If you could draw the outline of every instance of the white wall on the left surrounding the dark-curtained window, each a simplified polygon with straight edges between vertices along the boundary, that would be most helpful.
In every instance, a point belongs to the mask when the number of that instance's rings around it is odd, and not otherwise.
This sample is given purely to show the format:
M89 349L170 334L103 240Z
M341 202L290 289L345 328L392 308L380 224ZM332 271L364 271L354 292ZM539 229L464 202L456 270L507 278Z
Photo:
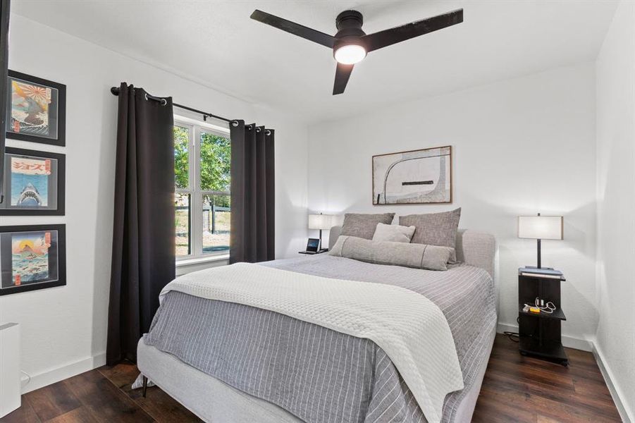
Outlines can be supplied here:
M304 124L16 15L9 67L62 82L67 90L66 148L8 141L66 154L66 216L0 218L2 225L66 223L67 285L0 297L0 321L22 326L22 365L33 376L27 390L104 362L117 108L112 85L132 82L180 104L276 128L276 256L292 255L306 242Z

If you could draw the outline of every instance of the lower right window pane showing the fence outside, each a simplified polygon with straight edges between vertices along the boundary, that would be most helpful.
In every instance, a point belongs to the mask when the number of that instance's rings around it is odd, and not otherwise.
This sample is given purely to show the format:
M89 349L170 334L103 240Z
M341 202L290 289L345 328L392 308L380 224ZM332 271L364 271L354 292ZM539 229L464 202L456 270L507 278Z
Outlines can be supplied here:
M203 195L203 254L229 250L229 195Z

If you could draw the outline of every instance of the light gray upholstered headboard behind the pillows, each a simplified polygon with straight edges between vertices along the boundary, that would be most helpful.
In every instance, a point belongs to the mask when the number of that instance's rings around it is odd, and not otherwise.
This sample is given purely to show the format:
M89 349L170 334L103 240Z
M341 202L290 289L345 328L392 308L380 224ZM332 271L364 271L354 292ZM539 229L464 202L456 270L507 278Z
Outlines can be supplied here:
M328 235L329 250L338 240L342 226L333 226ZM481 267L494 278L494 260L496 257L496 239L494 235L485 232L459 229L457 232L457 260Z

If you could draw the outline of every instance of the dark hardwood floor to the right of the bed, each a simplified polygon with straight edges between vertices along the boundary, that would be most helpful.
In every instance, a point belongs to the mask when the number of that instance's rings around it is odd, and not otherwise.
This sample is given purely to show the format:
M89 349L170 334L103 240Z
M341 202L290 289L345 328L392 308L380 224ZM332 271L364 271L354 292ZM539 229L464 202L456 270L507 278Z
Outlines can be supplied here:
M497 335L473 422L622 422L593 354L565 348L569 367L518 353Z

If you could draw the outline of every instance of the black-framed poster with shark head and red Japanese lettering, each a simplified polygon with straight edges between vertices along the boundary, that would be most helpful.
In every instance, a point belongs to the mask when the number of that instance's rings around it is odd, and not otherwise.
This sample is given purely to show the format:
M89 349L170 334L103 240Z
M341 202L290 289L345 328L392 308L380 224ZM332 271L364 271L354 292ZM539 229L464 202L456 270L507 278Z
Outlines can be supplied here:
M6 147L0 216L63 216L64 154Z

